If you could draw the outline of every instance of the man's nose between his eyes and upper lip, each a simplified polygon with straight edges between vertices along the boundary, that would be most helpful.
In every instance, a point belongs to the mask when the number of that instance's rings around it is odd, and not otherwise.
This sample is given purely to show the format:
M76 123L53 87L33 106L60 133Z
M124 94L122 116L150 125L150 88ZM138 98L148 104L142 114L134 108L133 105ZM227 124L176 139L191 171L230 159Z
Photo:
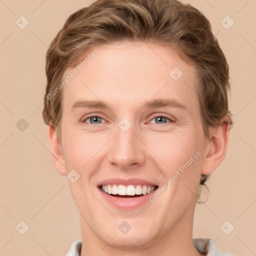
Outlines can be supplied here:
M128 170L145 162L145 145L134 125L123 131L119 126L112 138L108 161L120 169Z

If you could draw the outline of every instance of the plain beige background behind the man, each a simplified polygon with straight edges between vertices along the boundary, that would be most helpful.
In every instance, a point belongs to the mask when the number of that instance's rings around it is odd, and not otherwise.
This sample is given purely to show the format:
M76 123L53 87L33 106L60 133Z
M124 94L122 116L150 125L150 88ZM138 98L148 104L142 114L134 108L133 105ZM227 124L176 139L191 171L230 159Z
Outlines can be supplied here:
M78 210L68 180L51 162L41 111L47 46L68 15L91 2L0 0L2 256L64 255L71 242L80 239ZM207 183L209 198L196 206L193 235L210 237L222 250L236 255L256 255L256 0L183 2L209 18L226 55L235 121L226 157ZM21 15L29 21L24 29L15 24ZM226 15L234 21L229 29L220 23ZM23 131L16 127L21 118L29 125ZM21 220L29 226L24 234L15 229ZM226 220L230 223L224 225L225 231L234 226L229 234L220 228Z

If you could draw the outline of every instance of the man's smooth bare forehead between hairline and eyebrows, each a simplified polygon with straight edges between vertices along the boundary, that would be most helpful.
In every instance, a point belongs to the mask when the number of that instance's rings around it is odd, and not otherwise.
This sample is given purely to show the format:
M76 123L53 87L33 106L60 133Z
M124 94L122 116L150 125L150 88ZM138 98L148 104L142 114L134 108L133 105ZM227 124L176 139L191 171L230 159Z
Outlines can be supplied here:
M174 97L188 106L197 101L195 68L170 46L145 42L101 45L81 56L74 69L65 70L63 79L71 72L75 75L63 89L64 105L81 97L126 105L156 95Z

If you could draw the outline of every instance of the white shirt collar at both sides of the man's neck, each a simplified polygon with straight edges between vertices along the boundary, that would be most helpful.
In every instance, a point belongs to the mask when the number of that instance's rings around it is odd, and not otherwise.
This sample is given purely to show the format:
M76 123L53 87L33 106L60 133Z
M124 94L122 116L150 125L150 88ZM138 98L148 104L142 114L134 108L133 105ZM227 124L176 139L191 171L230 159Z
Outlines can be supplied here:
M224 252L218 248L214 240L211 238L206 239L206 238L194 238L193 239L193 244L194 247L200 252L200 253L206 253L206 256L234 256L234 254L230 252ZM81 247L82 247L82 241L77 240L74 241L67 254L65 256L80 256L81 252Z

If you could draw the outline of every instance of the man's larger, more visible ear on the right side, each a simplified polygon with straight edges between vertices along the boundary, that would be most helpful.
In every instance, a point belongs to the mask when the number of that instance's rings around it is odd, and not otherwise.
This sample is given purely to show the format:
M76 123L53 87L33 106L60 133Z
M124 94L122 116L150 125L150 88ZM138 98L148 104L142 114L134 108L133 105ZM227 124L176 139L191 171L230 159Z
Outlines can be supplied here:
M204 159L201 174L210 174L222 162L226 155L229 136L229 118L224 116L218 127L209 128L209 140L204 146Z

